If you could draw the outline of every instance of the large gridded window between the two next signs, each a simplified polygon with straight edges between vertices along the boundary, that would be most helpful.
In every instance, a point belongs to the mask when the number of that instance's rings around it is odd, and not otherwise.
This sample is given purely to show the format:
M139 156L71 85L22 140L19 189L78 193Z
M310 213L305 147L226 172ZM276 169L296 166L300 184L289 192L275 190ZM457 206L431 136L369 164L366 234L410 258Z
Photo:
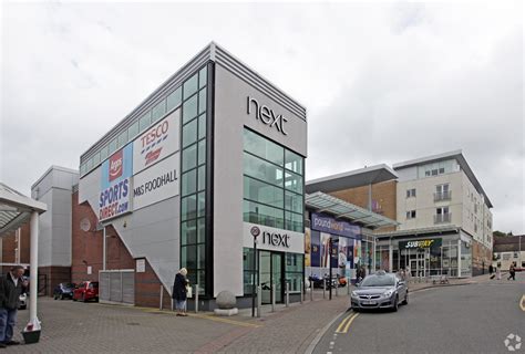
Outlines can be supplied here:
M303 231L303 158L244 131L244 220Z

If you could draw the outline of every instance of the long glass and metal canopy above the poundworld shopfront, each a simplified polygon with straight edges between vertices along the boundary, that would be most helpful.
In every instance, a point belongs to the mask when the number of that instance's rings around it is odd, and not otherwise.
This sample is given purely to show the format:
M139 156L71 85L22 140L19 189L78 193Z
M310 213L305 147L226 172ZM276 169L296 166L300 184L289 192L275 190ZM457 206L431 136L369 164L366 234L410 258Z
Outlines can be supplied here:
M369 211L348 201L316 191L305 196L307 208L317 212L328 212L337 219L347 219L350 222L360 223L369 229L377 229L384 226L397 226L398 221L385 218L379 214Z

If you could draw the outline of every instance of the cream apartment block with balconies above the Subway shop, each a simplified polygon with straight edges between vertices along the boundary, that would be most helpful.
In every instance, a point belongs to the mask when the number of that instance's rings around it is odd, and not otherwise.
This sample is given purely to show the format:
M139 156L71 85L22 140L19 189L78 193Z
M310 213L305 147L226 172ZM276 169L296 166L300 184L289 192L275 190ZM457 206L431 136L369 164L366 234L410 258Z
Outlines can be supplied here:
M492 202L461 150L394 164L397 231L378 235L388 269L414 277L486 272L492 260Z

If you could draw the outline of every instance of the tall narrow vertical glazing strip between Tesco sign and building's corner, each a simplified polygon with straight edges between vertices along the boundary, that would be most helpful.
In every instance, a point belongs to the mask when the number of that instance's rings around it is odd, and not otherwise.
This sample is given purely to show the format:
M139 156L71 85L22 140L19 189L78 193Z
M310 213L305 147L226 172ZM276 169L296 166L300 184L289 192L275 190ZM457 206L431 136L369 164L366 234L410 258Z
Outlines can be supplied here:
M181 267L188 270L191 284L206 289L206 156L207 67L189 77L168 104L182 103L181 158ZM198 107L204 107L198 110ZM208 260L209 261L209 260Z

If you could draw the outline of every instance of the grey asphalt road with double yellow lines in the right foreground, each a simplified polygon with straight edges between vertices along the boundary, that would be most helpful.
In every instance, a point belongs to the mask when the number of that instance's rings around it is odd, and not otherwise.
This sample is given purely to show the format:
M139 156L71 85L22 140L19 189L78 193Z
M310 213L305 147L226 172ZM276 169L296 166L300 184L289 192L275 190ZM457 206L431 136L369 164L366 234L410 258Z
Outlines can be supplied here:
M525 353L523 296L525 273L516 281L426 289L398 312L344 313L313 353ZM514 352L504 343L511 333L522 339Z

